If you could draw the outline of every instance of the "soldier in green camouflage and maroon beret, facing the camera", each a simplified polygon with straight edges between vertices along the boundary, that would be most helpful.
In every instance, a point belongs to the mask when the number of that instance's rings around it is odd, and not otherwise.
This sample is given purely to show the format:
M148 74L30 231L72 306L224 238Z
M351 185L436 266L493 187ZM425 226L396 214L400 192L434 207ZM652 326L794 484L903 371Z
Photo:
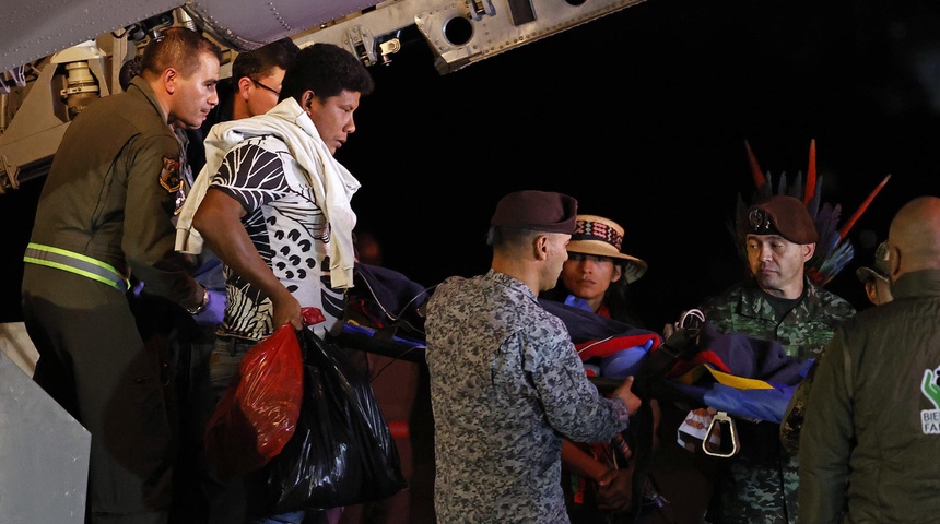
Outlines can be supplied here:
M700 309L719 332L779 342L788 355L819 356L839 322L853 317L846 300L815 286L804 264L819 235L803 203L774 195L748 210L747 252L752 277ZM710 523L795 523L796 456L771 422L737 421L741 452L720 458L708 508Z

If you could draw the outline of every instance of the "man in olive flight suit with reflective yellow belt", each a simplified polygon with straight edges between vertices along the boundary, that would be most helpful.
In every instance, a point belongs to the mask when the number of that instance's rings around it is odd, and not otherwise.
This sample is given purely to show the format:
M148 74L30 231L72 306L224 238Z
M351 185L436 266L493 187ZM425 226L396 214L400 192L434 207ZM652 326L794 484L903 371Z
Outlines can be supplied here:
M71 122L39 199L23 314L39 352L34 380L92 434L86 522L167 522L174 449L160 361L126 294L132 273L192 314L213 312L173 249L185 152L172 127L198 128L218 104L220 58L187 28L153 39L128 91Z

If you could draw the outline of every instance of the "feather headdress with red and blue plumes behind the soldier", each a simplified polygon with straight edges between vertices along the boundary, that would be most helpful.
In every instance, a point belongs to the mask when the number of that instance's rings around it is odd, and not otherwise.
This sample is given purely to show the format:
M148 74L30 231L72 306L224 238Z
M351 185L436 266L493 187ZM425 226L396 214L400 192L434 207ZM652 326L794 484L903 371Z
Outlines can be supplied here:
M748 207L751 203L759 199L771 196L773 194L788 194L803 201L810 217L815 224L816 233L819 233L819 242L813 258L807 263L806 273L810 281L818 286L825 286L832 278L842 271L851 258L855 255L855 249L851 242L846 239L848 231L855 225L856 221L865 213L865 210L871 204L874 195L888 183L891 175L884 177L884 180L874 188L868 195L865 202L856 210L842 227L838 227L839 218L842 218L842 206L822 202L821 189L822 177L816 175L816 143L815 140L810 142L810 159L807 169L807 180L803 183L802 174L797 172L796 179L791 184L787 183L787 174L780 174L777 180L776 191L773 189L773 180L771 174L764 175L761 170L757 158L751 151L751 145L744 141L744 147L748 150L748 162L751 166L751 174L754 177L754 193L750 203L744 203L741 193L738 193L737 210L735 213L735 224L731 234L735 236L735 241L738 246L738 251L744 260L748 260L745 237L748 224Z

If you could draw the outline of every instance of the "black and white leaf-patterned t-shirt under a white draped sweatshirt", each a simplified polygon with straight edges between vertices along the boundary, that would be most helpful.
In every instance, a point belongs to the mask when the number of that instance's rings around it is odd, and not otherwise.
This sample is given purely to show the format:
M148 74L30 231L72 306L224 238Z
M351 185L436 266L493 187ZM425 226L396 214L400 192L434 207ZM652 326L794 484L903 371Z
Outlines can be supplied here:
M225 155L211 187L242 203L255 248L301 306L322 311L327 321L315 331L322 335L338 323L343 294L329 288L330 227L286 144L273 136L246 140ZM273 332L271 299L228 267L225 279L221 330L252 340Z

